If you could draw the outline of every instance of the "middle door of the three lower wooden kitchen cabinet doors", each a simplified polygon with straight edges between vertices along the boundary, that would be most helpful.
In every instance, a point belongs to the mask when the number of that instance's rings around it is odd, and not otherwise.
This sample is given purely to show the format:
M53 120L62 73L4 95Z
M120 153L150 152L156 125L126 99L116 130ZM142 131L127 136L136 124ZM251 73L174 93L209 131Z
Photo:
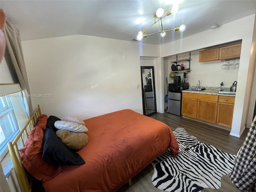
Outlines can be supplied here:
M211 123L216 123L218 102L198 100L196 118Z

